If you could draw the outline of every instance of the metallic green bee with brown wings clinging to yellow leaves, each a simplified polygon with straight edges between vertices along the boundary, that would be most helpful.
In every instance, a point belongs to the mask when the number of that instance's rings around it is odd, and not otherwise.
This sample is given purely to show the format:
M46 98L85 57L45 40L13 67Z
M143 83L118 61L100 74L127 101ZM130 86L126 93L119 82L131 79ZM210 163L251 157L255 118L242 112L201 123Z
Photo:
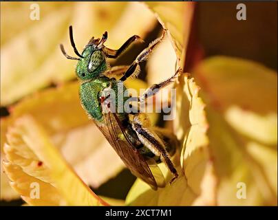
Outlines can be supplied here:
M102 39L94 39L94 37L90 39L82 54L79 54L74 43L72 26L70 26L69 38L78 58L67 55L63 45L60 45L66 58L78 61L76 74L81 80L79 95L89 118L94 120L131 173L145 181L154 190L165 186L164 176L157 166L160 162L164 162L174 175L170 184L178 177L177 170L170 159L176 151L178 140L175 135L165 129L151 127L145 113L111 111L109 98L111 91L122 94L126 91L127 88L123 86L123 82L129 76L140 72L139 64L147 59L153 48L162 41L165 33L163 30L162 36L150 43L149 47L143 50L129 67L109 68L107 58L117 58L131 43L140 41L140 37L136 35L131 36L120 49L111 50L103 45L107 41L107 32L105 32ZM158 89L174 82L179 74L180 69L171 78L149 87L142 96L136 97L136 100L140 103L153 96ZM120 79L116 80L114 76ZM119 87L122 89L118 89ZM127 98L123 101L127 101ZM114 102L116 107L122 105L117 99Z

